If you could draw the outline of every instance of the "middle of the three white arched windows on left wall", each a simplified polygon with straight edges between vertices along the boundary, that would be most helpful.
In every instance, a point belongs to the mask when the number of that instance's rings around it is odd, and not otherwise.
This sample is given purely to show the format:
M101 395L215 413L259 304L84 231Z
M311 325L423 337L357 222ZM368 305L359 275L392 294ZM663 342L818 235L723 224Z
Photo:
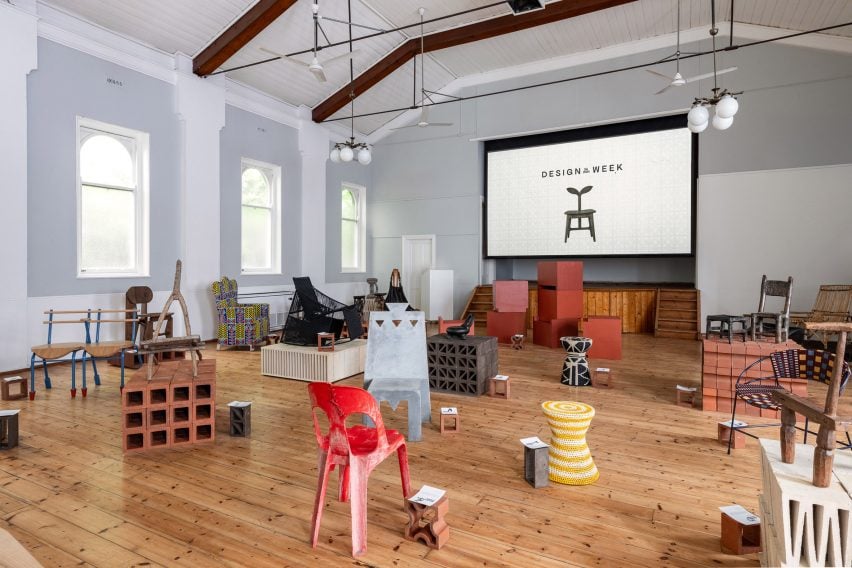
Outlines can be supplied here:
M280 273L281 168L243 158L242 171L242 271Z

